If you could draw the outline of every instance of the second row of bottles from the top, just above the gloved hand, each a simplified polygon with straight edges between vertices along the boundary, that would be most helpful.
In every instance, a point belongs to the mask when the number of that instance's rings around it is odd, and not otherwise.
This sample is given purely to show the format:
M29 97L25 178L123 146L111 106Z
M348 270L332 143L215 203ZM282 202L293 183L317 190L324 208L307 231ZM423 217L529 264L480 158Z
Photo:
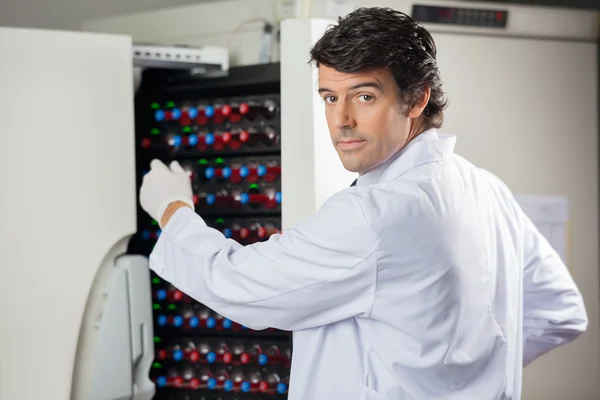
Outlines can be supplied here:
M190 134L157 134L142 139L144 149L168 147L172 150L240 150L257 147L275 148L279 144L279 131L272 126L235 129L230 131Z

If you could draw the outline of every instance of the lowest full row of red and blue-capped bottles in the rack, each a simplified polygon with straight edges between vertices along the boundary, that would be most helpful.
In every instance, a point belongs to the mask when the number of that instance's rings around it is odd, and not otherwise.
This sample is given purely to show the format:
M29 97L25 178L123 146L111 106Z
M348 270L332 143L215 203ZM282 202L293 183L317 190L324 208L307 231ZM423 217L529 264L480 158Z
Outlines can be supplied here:
M254 369L245 371L225 368L212 372L209 368L169 368L165 375L156 375L158 388L223 390L226 392L268 393L284 395L288 391L289 377L280 373Z

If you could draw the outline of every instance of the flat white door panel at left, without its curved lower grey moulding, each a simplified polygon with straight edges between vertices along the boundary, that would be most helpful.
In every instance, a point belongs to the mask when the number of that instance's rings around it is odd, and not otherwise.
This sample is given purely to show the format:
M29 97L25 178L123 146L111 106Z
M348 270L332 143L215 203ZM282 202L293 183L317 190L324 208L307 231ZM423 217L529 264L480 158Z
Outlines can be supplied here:
M136 227L131 39L0 28L0 54L0 399L67 400L96 271Z

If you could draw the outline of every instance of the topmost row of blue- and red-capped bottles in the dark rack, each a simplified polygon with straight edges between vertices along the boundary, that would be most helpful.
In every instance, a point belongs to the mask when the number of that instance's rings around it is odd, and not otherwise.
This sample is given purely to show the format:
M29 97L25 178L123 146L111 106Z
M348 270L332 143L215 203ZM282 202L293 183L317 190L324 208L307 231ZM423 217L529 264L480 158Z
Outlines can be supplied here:
M233 123L242 119L254 121L258 118L272 119L277 115L279 105L273 99L249 99L247 101L217 101L215 104L187 104L178 106L172 101L163 106L152 103L150 108L154 113L155 122L176 121L181 125L195 122L203 125L212 121L220 124L225 121Z

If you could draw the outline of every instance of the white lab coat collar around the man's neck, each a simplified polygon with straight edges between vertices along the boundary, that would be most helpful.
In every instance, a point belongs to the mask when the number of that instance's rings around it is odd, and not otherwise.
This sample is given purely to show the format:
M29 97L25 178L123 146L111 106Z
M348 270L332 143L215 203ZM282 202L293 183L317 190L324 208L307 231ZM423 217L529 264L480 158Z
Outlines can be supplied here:
M444 159L454 153L456 136L428 129L376 168L361 175L356 186L368 186L397 178L413 167Z

